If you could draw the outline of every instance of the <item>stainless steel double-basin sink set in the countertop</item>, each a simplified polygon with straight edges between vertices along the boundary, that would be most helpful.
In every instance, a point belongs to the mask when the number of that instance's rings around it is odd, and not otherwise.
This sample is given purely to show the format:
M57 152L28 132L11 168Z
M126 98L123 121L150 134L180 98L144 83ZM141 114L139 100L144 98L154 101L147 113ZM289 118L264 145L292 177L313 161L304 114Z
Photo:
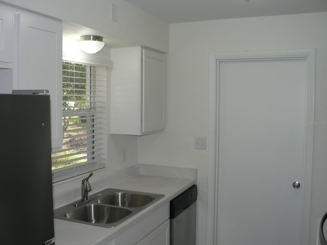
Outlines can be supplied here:
M159 199L161 194L121 189L104 189L54 210L54 217L88 225L113 228Z

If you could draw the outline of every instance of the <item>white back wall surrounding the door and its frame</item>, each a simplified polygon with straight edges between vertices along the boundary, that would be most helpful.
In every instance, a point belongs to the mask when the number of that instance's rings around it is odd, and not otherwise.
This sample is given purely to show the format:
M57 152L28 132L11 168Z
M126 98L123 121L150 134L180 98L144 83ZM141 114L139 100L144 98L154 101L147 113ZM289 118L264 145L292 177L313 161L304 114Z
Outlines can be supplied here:
M208 136L208 54L316 48L315 120L327 123L327 13L223 19L170 25L167 128L137 139L138 162L198 169L197 244L206 243L208 153L194 150ZM327 125L315 127L310 244L327 211Z

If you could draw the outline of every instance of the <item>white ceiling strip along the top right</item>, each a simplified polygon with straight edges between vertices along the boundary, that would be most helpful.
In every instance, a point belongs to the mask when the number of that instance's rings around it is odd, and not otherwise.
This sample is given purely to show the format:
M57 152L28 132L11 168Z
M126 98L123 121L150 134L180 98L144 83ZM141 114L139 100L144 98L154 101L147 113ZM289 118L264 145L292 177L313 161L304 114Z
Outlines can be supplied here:
M327 0L126 1L168 23L327 11Z

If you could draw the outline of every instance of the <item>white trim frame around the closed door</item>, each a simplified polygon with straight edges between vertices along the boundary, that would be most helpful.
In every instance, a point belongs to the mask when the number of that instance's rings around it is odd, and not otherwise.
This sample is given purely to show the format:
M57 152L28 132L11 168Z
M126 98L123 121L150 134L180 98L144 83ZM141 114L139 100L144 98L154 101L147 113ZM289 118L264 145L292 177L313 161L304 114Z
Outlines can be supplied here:
M209 53L207 245L217 244L219 171L219 113L217 113L217 108L219 108L219 63L224 61L286 59L306 60L307 63L305 155L303 156L303 196L300 241L301 245L309 244L314 136L314 123L310 124L310 122L314 122L316 61L316 51L314 49Z

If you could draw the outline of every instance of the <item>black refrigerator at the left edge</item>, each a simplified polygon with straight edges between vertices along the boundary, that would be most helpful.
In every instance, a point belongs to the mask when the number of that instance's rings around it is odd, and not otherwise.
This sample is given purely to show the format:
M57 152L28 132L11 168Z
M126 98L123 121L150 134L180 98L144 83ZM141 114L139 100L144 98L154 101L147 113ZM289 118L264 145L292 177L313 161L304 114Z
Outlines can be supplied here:
M54 243L50 95L0 94L0 243Z

